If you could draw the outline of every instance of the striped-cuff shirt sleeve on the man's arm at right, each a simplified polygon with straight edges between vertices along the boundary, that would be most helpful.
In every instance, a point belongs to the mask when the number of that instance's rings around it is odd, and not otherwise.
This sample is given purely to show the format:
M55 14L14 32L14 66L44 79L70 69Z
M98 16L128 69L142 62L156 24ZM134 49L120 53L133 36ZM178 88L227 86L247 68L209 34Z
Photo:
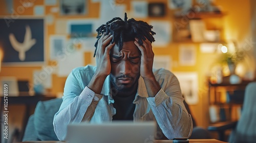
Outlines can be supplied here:
M189 137L193 130L193 122L183 104L183 98L177 78L169 80L169 86L160 89L155 97L148 97L156 121L168 139Z

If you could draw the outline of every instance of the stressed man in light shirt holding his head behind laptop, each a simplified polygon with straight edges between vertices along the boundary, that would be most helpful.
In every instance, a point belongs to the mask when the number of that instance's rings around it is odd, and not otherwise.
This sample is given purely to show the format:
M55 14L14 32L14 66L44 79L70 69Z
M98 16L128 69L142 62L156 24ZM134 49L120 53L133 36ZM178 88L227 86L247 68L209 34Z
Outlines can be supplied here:
M74 122L157 121L169 139L189 137L193 128L177 78L153 69L153 27L131 18L113 18L100 26L95 43L97 66L72 70L54 131L65 140ZM100 135L98 135L100 137Z

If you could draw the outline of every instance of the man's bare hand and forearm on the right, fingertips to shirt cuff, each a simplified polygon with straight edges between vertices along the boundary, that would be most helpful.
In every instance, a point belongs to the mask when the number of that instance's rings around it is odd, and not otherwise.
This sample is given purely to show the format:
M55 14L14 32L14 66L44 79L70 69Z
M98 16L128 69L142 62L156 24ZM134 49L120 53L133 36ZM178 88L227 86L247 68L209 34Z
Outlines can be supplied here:
M143 40L143 44L140 45L138 40L135 38L134 43L141 52L140 76L144 79L148 96L155 97L161 87L153 74L154 52L152 50L152 44L145 39Z

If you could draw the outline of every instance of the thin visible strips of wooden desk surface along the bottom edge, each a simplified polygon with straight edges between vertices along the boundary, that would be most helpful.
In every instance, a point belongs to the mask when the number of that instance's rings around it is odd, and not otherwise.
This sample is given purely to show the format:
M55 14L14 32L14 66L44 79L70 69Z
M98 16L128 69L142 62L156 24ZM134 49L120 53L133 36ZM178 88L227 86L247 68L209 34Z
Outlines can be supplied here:
M27 143L65 143L65 141L25 141ZM172 143L173 140L155 140L155 143ZM223 143L224 141L220 141L217 139L189 139L189 143L202 143L202 142L209 142L209 143Z

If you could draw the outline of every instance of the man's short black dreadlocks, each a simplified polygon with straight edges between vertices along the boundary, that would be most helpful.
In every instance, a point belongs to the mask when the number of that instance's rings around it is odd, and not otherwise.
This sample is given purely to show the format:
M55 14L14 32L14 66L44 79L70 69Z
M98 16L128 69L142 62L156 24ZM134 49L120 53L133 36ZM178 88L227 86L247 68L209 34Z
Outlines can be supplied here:
M142 40L145 40L146 38L150 42L154 42L155 39L153 37L155 32L153 32L151 29L153 26L148 25L144 21L137 21L134 18L131 18L127 20L127 14L124 13L124 20L122 20L120 17L115 17L112 20L106 22L105 25L101 25L96 31L98 33L97 35L97 41L95 43L95 53L96 55L97 51L97 45L99 38L104 34L108 35L109 33L113 35L113 39L111 43L116 42L116 44L119 46L119 51L121 51L123 42L127 41L134 41L135 38L139 39L139 44L142 45Z

